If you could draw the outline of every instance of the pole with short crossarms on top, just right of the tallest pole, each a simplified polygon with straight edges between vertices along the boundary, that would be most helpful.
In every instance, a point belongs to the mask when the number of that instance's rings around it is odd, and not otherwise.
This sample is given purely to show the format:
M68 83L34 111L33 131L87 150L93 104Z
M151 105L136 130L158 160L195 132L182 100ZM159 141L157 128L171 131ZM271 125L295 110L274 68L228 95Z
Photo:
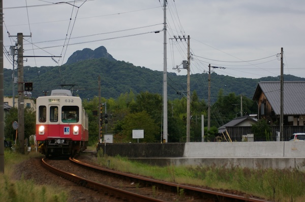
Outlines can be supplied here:
M190 35L188 35L188 79L187 79L187 142L191 141L191 76L190 76Z

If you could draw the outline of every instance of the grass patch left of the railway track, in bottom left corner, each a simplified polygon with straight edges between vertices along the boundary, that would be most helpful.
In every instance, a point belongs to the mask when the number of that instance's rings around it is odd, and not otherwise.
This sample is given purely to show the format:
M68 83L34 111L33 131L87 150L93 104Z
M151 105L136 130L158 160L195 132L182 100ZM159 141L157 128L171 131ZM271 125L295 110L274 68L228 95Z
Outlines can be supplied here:
M29 154L19 154L10 150L5 150L4 173L0 173L0 199L8 202L65 202L68 200L68 193L58 187L50 185L36 185L33 180L13 180L16 164L22 161L41 156L36 152Z

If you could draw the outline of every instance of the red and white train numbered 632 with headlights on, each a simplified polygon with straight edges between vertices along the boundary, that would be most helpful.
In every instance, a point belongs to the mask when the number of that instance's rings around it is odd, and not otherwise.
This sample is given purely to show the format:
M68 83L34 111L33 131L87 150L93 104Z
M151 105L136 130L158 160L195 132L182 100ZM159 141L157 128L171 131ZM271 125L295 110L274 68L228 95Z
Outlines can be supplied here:
M36 100L36 140L49 155L75 155L88 143L88 116L79 97L69 90L52 90Z

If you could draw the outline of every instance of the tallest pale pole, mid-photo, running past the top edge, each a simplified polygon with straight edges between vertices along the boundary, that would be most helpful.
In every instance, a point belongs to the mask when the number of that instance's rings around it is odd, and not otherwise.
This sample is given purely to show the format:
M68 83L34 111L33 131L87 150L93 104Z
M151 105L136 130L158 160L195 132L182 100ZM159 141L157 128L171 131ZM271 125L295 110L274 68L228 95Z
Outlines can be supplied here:
M163 3L164 13L164 42L163 42L163 142L168 142L168 117L167 117L167 50L166 50L166 0Z

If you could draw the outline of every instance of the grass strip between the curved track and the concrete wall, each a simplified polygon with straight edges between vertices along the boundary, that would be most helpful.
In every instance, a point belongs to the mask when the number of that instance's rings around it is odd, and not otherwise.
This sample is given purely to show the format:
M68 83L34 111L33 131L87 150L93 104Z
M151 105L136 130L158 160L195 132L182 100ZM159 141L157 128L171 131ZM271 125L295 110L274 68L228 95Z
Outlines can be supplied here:
M110 169L134 173L155 179L193 184L217 189L245 192L271 201L305 201L305 173L297 170L247 169L224 167L158 167L130 161L126 157L103 156L98 152L98 164ZM182 194L182 193L179 193Z

